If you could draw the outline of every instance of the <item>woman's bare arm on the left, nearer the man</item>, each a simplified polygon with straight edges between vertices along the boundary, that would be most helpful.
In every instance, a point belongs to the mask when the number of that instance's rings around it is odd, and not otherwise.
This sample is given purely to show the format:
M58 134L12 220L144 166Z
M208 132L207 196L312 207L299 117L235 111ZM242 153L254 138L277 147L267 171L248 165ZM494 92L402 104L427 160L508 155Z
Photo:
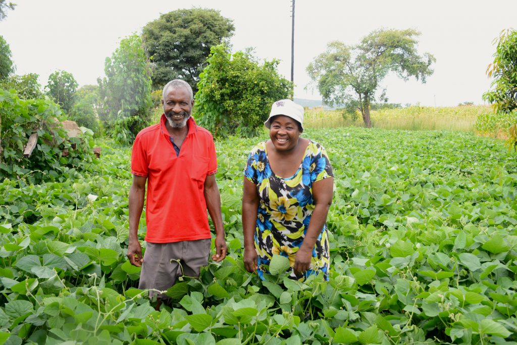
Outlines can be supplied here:
M257 253L253 241L257 220L259 198L256 186L244 177L242 191L242 231L244 232L244 266L246 271L257 269Z

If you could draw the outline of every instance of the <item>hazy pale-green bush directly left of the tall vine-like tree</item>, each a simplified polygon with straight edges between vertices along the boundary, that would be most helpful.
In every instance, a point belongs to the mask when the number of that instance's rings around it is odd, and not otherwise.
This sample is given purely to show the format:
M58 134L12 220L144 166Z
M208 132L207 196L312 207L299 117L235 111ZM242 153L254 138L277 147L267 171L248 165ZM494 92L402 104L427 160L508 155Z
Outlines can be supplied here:
M70 111L69 118L79 126L99 132L99 120L96 109L99 107L99 86L85 85L74 95L75 103Z

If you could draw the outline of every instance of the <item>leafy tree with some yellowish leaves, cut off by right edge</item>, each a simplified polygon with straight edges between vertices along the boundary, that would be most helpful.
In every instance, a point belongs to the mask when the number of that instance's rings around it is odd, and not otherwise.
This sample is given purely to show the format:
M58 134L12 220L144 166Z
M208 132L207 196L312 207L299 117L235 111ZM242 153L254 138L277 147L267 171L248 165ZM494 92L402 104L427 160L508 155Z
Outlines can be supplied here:
M509 113L517 109L517 31L503 31L495 42L494 62L486 69L494 81L483 99L493 104L495 112Z

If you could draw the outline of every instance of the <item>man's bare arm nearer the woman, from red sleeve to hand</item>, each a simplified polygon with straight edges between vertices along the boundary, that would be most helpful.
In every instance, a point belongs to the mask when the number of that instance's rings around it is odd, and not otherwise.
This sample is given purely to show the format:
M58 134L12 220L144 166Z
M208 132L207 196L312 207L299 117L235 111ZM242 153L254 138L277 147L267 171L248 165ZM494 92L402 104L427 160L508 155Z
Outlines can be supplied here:
M226 257L227 248L226 241L224 241L224 226L221 217L221 196L215 174L206 176L204 192L206 208L216 229L216 253L212 255L212 260L220 262Z

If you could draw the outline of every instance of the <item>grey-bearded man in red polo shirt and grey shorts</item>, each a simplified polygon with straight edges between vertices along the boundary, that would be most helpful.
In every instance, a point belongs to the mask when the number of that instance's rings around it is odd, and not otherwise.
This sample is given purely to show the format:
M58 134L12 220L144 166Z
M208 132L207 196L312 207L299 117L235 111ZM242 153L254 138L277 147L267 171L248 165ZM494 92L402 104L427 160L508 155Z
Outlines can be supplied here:
M127 252L132 265L142 266L139 288L159 291L173 286L178 275L198 277L208 263L207 209L216 230L212 260L226 257L214 139L190 116L194 100L188 83L169 82L162 97L160 123L140 131L133 145ZM147 247L142 257L138 227L146 181ZM151 290L149 297L155 294ZM157 297L158 310L167 296Z

